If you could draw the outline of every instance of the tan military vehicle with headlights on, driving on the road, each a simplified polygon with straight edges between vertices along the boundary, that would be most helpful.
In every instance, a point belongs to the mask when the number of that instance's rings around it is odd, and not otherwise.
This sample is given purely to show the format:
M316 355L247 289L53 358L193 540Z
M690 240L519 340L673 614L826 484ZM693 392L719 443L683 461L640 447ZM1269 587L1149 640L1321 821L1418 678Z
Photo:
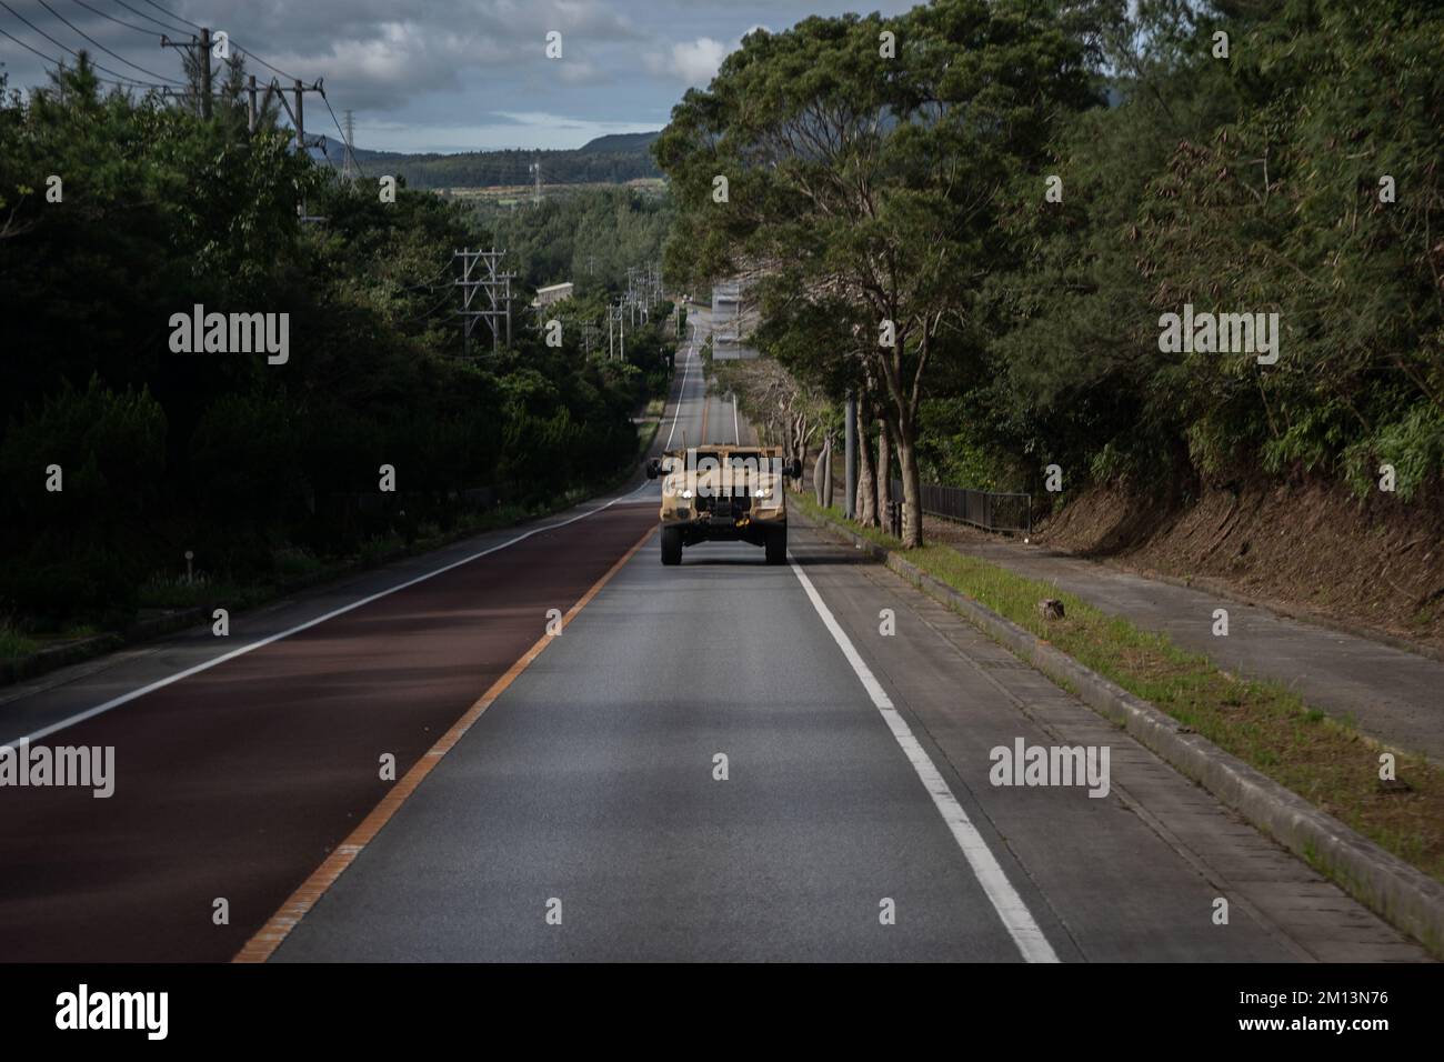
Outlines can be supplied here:
M661 478L661 562L682 564L683 546L749 542L767 564L787 561L787 498L783 483L803 474L780 446L693 446L647 462Z

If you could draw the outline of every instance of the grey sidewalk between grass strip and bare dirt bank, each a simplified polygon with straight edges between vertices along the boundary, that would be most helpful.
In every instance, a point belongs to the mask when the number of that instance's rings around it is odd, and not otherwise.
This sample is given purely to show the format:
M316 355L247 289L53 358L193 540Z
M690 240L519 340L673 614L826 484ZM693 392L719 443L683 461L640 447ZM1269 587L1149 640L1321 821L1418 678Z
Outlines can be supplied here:
M1444 761L1444 663L1047 546L996 539L949 545L1162 631L1229 672L1284 682L1311 707L1352 718L1388 746ZM1229 613L1227 637L1213 634L1214 608Z

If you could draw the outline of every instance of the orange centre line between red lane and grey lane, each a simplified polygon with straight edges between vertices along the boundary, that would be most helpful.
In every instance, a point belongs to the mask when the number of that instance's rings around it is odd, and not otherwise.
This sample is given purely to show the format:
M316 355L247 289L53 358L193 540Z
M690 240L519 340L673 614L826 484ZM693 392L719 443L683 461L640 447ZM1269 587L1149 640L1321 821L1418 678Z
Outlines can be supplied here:
M617 564L606 569L596 582L592 584L591 590L578 598L576 604L572 605L566 616L562 617L562 630L566 630L567 624L576 618L591 603L593 597L605 587L617 572L622 569L628 561L635 556L637 551L647 545L647 540L657 532L656 527L648 527L647 533L637 539L635 545L628 549ZM280 946L282 941L295 929L300 920L316 906L316 900L325 896L326 890L336 883L352 863L355 863L357 855L360 855L367 844L375 839L375 835L381 832L381 828L391 821L391 816L400 811L406 799L416 792L416 787L422 785L432 769L440 763L442 757L446 756L456 743L471 730L472 724L482 717L497 698L507 692L507 688L517 681L517 676L524 672L533 660L536 660L542 652L552 644L554 636L543 634L536 640L536 643L529 649L521 657L513 663L507 673L498 678L491 686L482 694L466 712L452 724L452 728L442 734L436 744L426 750L426 753L419 759L401 780L391 786L390 792L381 798L381 802L371 809L371 812L361 819L361 824L351 831L345 841L335 847L335 850L325 858L325 861L310 873L300 887L290 894L290 897L280 906L280 909L270 916L264 926L261 926L250 941L235 954L231 962L264 962L269 959L276 949Z

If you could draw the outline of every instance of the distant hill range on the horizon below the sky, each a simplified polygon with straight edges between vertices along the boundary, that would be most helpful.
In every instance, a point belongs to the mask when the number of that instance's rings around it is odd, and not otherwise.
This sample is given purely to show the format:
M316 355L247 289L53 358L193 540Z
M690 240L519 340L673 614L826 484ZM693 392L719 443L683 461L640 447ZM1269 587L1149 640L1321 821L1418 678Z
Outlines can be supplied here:
M658 178L661 170L651 157L657 133L612 133L599 136L575 150L458 152L455 155L374 152L357 147L354 156L365 170L386 166L387 173L406 178L412 188L497 188L531 184L531 163L542 163L542 182L547 185L625 184L638 178ZM345 146L328 137L325 149L312 149L318 162L329 159L339 166Z

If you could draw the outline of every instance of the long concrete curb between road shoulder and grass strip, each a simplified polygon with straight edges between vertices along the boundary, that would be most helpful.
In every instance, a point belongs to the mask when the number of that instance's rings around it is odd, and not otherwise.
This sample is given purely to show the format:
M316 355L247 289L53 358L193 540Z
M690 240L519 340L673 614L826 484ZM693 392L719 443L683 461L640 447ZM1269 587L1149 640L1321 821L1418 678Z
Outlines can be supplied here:
M804 517L851 539L924 594L959 611L1382 919L1414 936L1431 955L1444 958L1444 884L900 553L830 517L812 513Z

